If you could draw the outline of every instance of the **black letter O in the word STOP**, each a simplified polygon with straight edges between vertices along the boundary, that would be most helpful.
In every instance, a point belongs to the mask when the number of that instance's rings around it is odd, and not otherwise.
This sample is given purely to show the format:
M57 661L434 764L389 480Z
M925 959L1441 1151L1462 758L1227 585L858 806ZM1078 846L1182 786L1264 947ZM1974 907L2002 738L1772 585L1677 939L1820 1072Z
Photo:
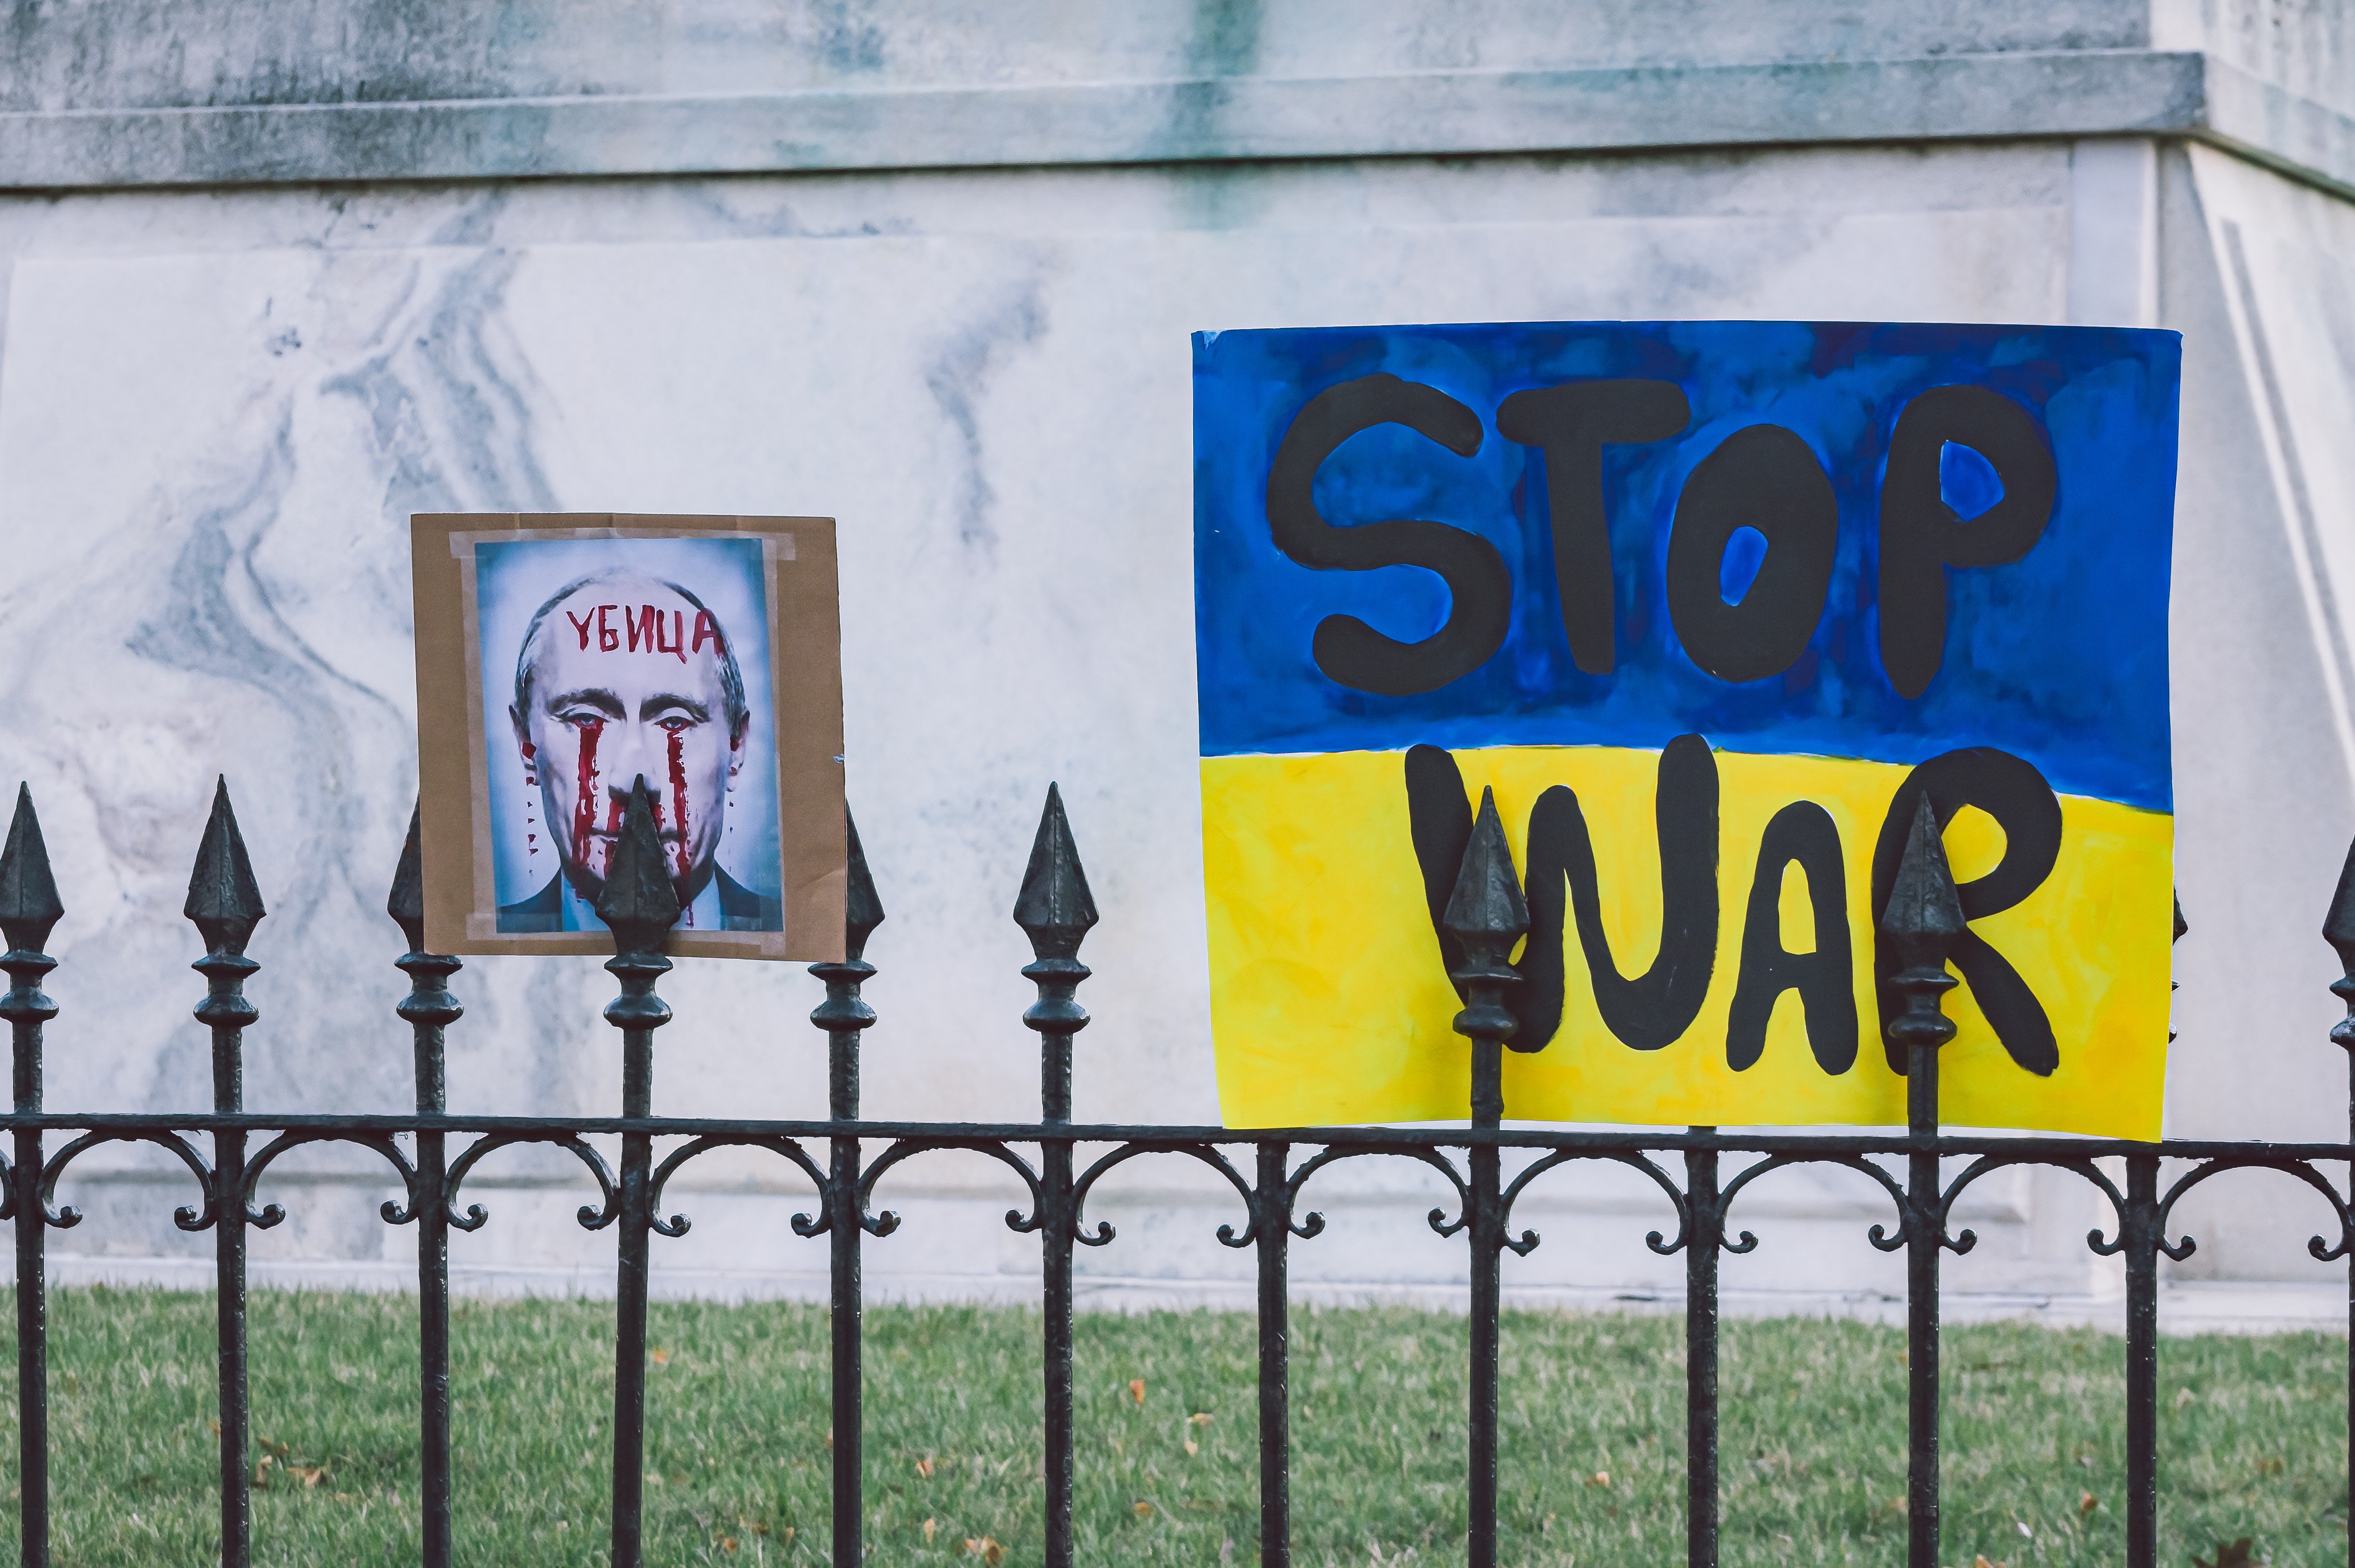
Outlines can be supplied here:
M1766 563L1729 605L1719 593L1726 539L1766 534ZM1700 459L1667 534L1667 614L1677 640L1719 680L1780 676L1806 652L1832 589L1839 501L1816 452L1780 424L1752 424Z

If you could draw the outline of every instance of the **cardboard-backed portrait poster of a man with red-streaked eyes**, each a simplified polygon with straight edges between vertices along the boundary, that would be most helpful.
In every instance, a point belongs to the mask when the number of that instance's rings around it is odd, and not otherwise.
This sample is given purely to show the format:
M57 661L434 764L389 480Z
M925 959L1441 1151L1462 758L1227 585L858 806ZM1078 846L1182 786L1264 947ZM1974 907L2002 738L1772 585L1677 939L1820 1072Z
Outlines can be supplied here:
M596 902L643 784L666 951L841 956L829 518L433 513L410 544L431 949L612 951Z

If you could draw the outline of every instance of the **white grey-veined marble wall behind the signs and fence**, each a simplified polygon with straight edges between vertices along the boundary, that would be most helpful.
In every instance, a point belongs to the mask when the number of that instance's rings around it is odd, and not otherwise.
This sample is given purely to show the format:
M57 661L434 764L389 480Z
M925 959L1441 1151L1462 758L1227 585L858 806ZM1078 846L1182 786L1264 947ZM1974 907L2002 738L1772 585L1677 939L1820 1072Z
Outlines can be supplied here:
M1104 913L1083 949L1097 977L1081 1001L1097 1022L1079 1041L1079 1116L1215 1121L1187 334L1613 315L2068 320L2117 297L2157 308L2120 294L2117 278L2155 266L2160 186L2200 224L2190 165L2174 158L2160 181L2148 158L2127 160L2131 200L2094 221L2087 212L2110 207L2089 200L2117 195L2120 179L2089 184L2096 162L2072 170L2065 146L2014 146L0 202L14 259L0 344L0 768L33 784L68 906L52 944L64 1015L49 1029L49 1104L207 1102L207 1048L188 1019L203 984L184 968L198 944L179 904L212 777L226 772L271 904L252 944L264 968L250 984L261 1024L247 1036L247 1104L405 1107L407 1031L391 1015L405 982L382 904L414 791L407 513L749 511L841 520L850 798L890 911L869 949L881 1024L867 1114L1034 1114L1036 1048L1017 1022L1029 954L1008 911L1041 796L1060 779ZM2211 250L2183 254L2193 278ZM2190 469L2202 436L2185 431ZM2185 537L2216 539L2216 525L2188 523ZM2294 664L2296 647L2291 636L2289 655L2249 659ZM2322 690L2320 666L2280 680L2289 706ZM2327 732L2320 716L2294 723ZM2185 862L2230 864L2249 833L2275 833L2282 873L2268 888L2327 892L2339 850L2306 862L2355 822L2336 744L2315 760L2322 817L2211 831L2197 817L2209 798L2197 713L2183 735ZM2289 946L2310 942L2322 895L2310 902L2249 899L2218 921L2207 909L2221 913L2221 895L2204 904L2185 890L2202 937L2209 921L2225 928L2209 951L2280 949L2261 979L2313 986L2282 1001L2214 963L2197 970L2216 986L2200 994L2202 1017L2270 1029L2327 1010L2327 954ZM478 958L455 989L469 1008L450 1031L455 1109L615 1104L615 1031L598 1019L612 982L596 961ZM678 1022L657 1036L659 1111L822 1111L805 975L681 961L664 996ZM2178 1076L2178 1130L2284 1135L2282 1116L2202 1121L2209 1071L2242 1069L2218 1059ZM2280 1069L2266 1067L2273 1109L2313 1104L2336 1071L2320 1043L2284 1045ZM120 1156L125 1175L139 1158ZM502 1158L525 1182L563 1172ZM405 1250L405 1231L374 1220L374 1172L327 1156L299 1170L318 1180L287 1201L297 1220L266 1253ZM674 1184L690 1212L695 1184L791 1189L754 1156L692 1170ZM883 1194L911 1222L871 1250L874 1278L1036 1267L1029 1238L973 1229L970 1212L994 1224L1003 1210L984 1170L944 1161L911 1177L909 1198ZM1641 1194L1573 1187L1587 1196L1564 1198L1566 1245L1517 1264L1521 1278L1653 1281ZM92 1220L59 1245L186 1245L146 1182L82 1189ZM1300 1248L1302 1278L1458 1267L1437 1238L1401 1241L1429 1205L1415 1180L1368 1172L1335 1189L1356 1224ZM1882 1278L1889 1264L1856 1236L1860 1198L1839 1177L1792 1177L1780 1212L1820 1245L1795 1236L1759 1267L1830 1288ZM551 1267L596 1255L605 1238L570 1231L575 1201L495 1196L495 1224L457 1248ZM1220 1267L1203 1238L1232 1215L1189 1175L1137 1175L1126 1198L1107 1184L1107 1201L1147 1229L1201 1231L1168 1267ZM1957 1274L1983 1271L1990 1288L2098 1283L2077 1196L2023 1177L1988 1201L1990 1245ZM822 1267L782 1217L772 1231L706 1222L657 1262ZM1608 1236L1608 1250L1573 1231Z

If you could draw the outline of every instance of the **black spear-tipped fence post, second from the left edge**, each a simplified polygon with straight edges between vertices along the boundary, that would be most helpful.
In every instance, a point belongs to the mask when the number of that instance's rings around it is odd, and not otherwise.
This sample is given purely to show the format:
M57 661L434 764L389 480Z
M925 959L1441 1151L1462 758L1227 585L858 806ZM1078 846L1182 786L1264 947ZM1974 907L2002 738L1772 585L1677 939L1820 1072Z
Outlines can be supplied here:
M205 1001L195 1019L212 1029L212 1109L245 1109L245 1029L261 1012L245 1001L245 977L261 965L245 956L254 925L266 913L254 866L245 857L245 833L228 805L228 779L217 779L205 843L188 876L186 918L205 937L205 956L191 968L205 977ZM252 1559L252 1474L247 1471L245 1387L245 1132L212 1135L212 1255L219 1309L221 1366L221 1566L245 1568Z

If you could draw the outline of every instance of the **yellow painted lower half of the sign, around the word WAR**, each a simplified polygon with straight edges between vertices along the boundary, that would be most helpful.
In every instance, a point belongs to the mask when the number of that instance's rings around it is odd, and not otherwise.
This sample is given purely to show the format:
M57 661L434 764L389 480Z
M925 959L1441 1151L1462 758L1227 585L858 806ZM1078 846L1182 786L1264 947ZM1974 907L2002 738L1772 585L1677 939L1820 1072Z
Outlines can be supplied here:
M1604 930L1623 975L1660 942L1653 831L1656 751L1498 746L1458 751L1479 800L1495 789L1517 862L1528 808L1568 784L1594 833ZM1910 770L1816 756L1717 753L1719 932L1707 1001L1665 1050L1630 1050L1594 1015L1575 921L1566 921L1564 1017L1540 1052L1505 1052L1505 1116L1639 1125L1900 1125L1905 1078L1889 1071L1872 996L1872 845ZM1795 994L1747 1071L1726 1067L1726 1012L1766 822L1816 800L1839 826L1856 954L1856 1067L1816 1067ZM1229 1128L1460 1121L1470 1048L1422 899L1406 815L1404 753L1225 756L1201 763L1210 904L1210 1019ZM2002 829L1957 812L1959 881L1992 869ZM1941 1121L2157 1137L2167 1088L2174 817L2061 796L2061 859L2025 902L1976 921L2044 1003L2061 1043L2049 1078L2016 1067L1971 1001L1941 1057ZM1811 946L1804 878L1778 895L1785 949Z

